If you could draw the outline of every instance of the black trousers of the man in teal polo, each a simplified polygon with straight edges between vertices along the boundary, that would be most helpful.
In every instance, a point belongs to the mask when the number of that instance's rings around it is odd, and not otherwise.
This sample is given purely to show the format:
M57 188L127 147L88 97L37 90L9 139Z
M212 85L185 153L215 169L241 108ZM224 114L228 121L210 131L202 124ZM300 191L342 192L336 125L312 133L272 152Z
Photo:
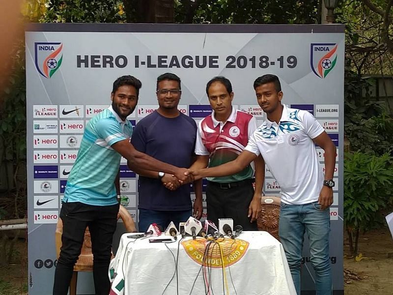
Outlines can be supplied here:
M67 295L73 268L81 254L84 231L89 227L93 253L93 278L96 295L108 295L111 284L108 268L111 261L112 237L116 230L119 205L91 206L80 202L64 203L62 246L55 271L53 295Z

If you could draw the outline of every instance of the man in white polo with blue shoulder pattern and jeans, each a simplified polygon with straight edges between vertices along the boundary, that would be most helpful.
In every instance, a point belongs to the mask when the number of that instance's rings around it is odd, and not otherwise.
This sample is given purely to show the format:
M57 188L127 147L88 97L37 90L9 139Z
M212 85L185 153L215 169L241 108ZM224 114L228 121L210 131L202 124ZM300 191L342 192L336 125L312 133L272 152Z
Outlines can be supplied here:
M297 294L303 237L307 233L316 295L330 295L329 207L333 203L336 147L309 112L281 104L283 93L277 76L258 77L254 89L267 119L256 129L247 147L234 161L192 173L196 179L231 175L261 154L281 186L279 235ZM319 168L314 143L325 150L325 176Z

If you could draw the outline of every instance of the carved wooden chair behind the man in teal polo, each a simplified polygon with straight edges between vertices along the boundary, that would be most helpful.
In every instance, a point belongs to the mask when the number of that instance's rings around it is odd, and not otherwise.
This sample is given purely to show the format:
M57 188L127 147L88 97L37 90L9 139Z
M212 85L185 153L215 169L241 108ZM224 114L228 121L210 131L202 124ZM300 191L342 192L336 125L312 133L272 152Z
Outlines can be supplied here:
M121 218L127 233L135 233L137 231L133 218L127 209L120 205L119 213L117 218ZM55 242L56 242L56 256L60 255L61 248L61 235L63 233L63 222L61 218L57 221ZM113 258L113 253L112 253ZM91 239L88 227L84 232L84 242L82 245L81 255L74 266L74 272L72 274L70 282L70 295L77 294L77 281L78 281L78 271L93 271L93 253L91 252Z

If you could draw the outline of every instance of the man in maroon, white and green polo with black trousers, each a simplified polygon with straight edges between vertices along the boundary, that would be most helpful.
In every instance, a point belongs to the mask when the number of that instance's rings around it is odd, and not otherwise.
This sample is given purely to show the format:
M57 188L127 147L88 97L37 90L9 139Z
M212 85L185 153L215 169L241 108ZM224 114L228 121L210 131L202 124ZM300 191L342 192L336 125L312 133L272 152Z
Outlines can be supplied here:
M197 170L230 162L247 146L256 129L256 119L232 107L233 91L228 79L214 77L206 85L211 115L198 124L195 153L197 161L190 168ZM264 163L255 161L254 171L248 165L241 172L227 177L208 177L206 188L208 219L217 224L219 218L232 218L244 230L256 230L260 211Z

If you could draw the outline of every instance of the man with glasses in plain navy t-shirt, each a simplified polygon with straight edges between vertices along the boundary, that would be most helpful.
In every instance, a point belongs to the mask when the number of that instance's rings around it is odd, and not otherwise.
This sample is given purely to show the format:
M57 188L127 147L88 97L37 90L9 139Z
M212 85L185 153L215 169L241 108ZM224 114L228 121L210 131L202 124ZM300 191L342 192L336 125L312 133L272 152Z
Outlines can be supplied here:
M131 143L134 147L158 160L177 167L190 167L194 162L197 138L196 122L179 112L180 78L165 73L157 78L159 108L142 118L136 125ZM176 227L191 215L202 215L201 180L194 182L196 201L192 212L190 185L160 171L146 171L129 167L139 178L139 231L144 232L153 222L166 228L170 221Z

